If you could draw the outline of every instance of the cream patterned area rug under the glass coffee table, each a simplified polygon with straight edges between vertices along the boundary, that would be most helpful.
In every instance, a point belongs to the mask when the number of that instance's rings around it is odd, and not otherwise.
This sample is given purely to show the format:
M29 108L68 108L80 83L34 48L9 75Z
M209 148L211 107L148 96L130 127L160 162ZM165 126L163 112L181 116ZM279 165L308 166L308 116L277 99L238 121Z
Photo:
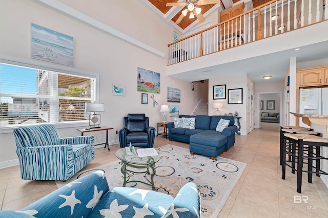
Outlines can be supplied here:
M216 161L202 155L191 155L189 149L168 144L157 148L160 157L155 164L154 183L156 191L175 197L180 188L188 182L197 185L201 196L202 217L217 217L226 203L230 192L237 184L246 164L218 157ZM123 177L120 172L120 161L114 161L86 172L78 173L68 181L56 181L58 187L78 177L102 169L109 187L122 186ZM144 174L131 174L131 180L146 181ZM128 183L127 187L151 190L151 186L142 183Z

